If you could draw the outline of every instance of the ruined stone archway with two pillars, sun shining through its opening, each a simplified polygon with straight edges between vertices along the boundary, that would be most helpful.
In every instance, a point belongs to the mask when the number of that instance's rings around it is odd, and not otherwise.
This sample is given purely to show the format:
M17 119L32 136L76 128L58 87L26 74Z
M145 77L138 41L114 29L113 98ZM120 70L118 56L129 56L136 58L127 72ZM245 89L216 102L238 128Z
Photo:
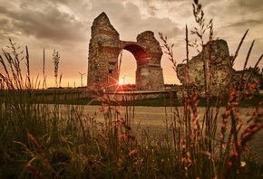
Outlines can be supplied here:
M146 31L137 36L137 42L120 40L107 14L96 17L92 26L89 44L88 88L115 90L118 87L120 54L122 50L132 52L136 63L136 89L159 90L164 88L161 69L161 46L154 33ZM122 59L125 62L125 59Z

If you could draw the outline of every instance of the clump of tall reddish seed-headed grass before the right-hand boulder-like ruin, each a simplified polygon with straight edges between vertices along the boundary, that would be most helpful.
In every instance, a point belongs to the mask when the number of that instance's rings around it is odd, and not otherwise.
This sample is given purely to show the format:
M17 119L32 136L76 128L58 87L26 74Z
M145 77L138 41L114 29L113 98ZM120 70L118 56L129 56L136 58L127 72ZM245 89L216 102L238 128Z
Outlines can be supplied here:
M235 83L230 84L228 103L226 106L226 111L222 116L222 126L221 126L221 137L218 140L216 134L219 126L219 107L221 106L222 95L220 91L216 100L215 106L211 105L211 50L213 42L213 24L212 20L209 24L205 24L204 12L202 10L202 5L198 1L193 3L193 14L195 16L196 23L199 27L195 27L191 34L196 34L200 39L200 43L195 41L190 43L188 40L188 27L186 25L186 62L189 63L189 47L194 48L207 48L207 54L203 55L201 53L201 59L203 60L204 67L204 90L206 98L206 110L203 116L203 120L200 120L198 114L198 103L199 97L195 89L195 85L190 83L189 79L189 65L185 65L185 77L186 77L186 90L182 93L182 110L178 106L174 106L174 124L173 127L178 127L175 130L176 137L174 141L179 142L174 143L175 148L180 148L181 152L179 157L181 158L181 165L184 168L185 177L190 178L228 178L228 177L243 177L244 170L241 168L241 156L244 155L244 148L247 147L248 138L252 138L258 130L262 127L262 123L254 123L244 129L241 132L241 126L239 125L239 104L242 99L247 97L247 94L256 88L257 83L252 83L250 85L249 81L252 73L249 74L248 80L243 82L244 72L240 75L240 80L238 86ZM204 45L204 34L209 30L209 42ZM233 61L238 56L239 49L243 43L246 34L245 33ZM169 60L172 63L172 68L176 71L176 61L173 59L172 46L167 43L167 37L164 37L160 33L162 42L164 42L163 47L166 53L170 56ZM246 69L247 62L249 59L250 52L252 50L254 42L252 42L246 61L244 63L244 68ZM200 52L197 49L197 52ZM257 68L259 61L261 61L262 56L258 59L255 68ZM229 67L231 71L231 67ZM248 87L249 86L249 87ZM181 114L178 112L181 111ZM249 120L251 121L251 120ZM230 123L228 125L228 123ZM230 130L227 132L227 127ZM252 129L253 128L253 129ZM248 134L248 131L253 131ZM243 134L240 134L243 133ZM245 138L246 139L245 139ZM220 141L220 143L219 143ZM230 144L234 144L230 146ZM218 150L219 148L219 150Z

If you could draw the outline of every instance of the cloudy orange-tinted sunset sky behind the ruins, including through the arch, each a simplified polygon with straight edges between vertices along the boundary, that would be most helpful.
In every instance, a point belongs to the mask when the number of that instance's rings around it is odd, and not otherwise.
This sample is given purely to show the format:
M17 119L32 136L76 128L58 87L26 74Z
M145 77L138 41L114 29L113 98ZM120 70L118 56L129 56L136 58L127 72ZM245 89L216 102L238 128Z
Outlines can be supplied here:
M227 41L230 54L236 52L243 34L249 29L234 68L243 68L249 46L256 40L248 61L248 66L254 66L263 52L262 0L200 0L200 4L206 23L213 19L214 38ZM43 82L45 53L45 75L49 87L55 84L55 50L60 54L58 73L63 75L61 86L81 86L80 73L83 74L83 85L86 85L91 26L94 18L102 12L108 15L122 41L136 42L139 33L150 30L161 42L158 33L163 33L168 43L174 43L174 59L178 63L186 59L186 24L189 30L198 26L190 0L0 0L1 48L8 51L9 38L20 46L21 51L27 45L35 84ZM190 35L191 41L195 39L198 38ZM197 55L196 50L190 49L190 56L194 55ZM22 63L24 65L25 61ZM179 84L171 65L168 57L163 55L164 82ZM259 68L263 68L262 62ZM120 78L126 84L134 83L135 71L136 61L132 53L124 52Z

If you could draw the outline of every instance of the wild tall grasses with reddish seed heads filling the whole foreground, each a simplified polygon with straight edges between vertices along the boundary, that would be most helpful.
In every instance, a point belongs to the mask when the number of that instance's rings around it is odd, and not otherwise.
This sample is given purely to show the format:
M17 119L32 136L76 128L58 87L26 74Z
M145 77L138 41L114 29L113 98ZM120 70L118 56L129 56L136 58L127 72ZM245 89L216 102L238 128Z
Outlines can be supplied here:
M212 24L203 25L198 1L194 2L193 9L200 31L209 30L209 41L212 41ZM202 42L200 33L199 37ZM161 39L175 68L170 46L163 36ZM188 30L186 44L189 51ZM132 113L136 112L132 108L133 101L112 105L109 98L96 96L104 115L103 122L85 114L83 105L68 105L62 110L57 96L53 106L35 103L27 48L24 78L21 53L12 41L9 46L11 52L4 51L0 56L5 71L0 73L1 86L6 89L0 100L1 178L262 177L262 165L248 153L248 141L262 128L263 114L259 108L262 96L245 101L253 105L253 115L248 119L239 118L246 91L256 88L256 84L246 86L246 81L240 81L243 88L232 84L227 99L220 96L212 99L209 91L205 99L199 99L190 86L180 100L162 99L170 105L173 115L164 121L166 132L152 137L149 130L132 128ZM261 59L262 56L258 62ZM62 78L58 75L58 66L59 54L54 52L56 87ZM205 85L209 89L209 80ZM119 111L119 105L125 107L124 113ZM219 117L218 111L223 105L225 112ZM206 108L203 117L197 112L200 106Z

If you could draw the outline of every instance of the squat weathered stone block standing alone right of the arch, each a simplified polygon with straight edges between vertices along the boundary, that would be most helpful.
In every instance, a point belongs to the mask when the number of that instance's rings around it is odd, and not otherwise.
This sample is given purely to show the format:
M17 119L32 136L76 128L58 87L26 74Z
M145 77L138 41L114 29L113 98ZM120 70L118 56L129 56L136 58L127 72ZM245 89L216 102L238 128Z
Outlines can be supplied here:
M210 49L210 50L209 50ZM183 86L186 86L185 68L189 65L189 84L195 87L198 91L198 95L201 98L206 96L204 85L204 62L208 59L208 50L210 51L210 73L211 73L211 85L210 95L216 97L220 91L222 95L227 94L231 84L237 84L240 79L241 72L235 71L232 68L232 57L229 55L228 43L224 40L215 40L212 42L210 48L208 43L204 46L203 50L195 57L193 57L189 63L181 63L177 66L177 76ZM243 76L243 81L248 80L249 72L246 71ZM209 77L207 77L209 79ZM257 83L258 77L252 75L248 84ZM250 94L258 93L259 89L256 88L249 91Z

